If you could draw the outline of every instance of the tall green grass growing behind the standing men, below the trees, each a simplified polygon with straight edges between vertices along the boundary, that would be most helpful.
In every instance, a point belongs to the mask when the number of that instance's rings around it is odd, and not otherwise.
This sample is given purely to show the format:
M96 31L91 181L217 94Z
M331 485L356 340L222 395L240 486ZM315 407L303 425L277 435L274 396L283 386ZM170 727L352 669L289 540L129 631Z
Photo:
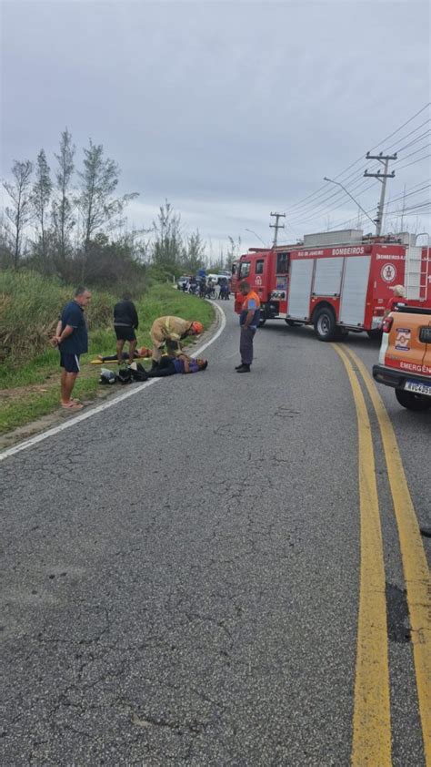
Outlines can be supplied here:
M74 288L36 272L0 272L0 389L44 383L58 373L58 351L49 340L59 313L74 295ZM93 291L85 309L89 327L88 362L96 353L115 353L113 308L119 296ZM139 316L138 346L150 346L150 328L156 317L173 314L185 320L212 322L213 308L195 296L155 284L135 301ZM92 373L96 373L94 369ZM2 405L0 405L0 410Z

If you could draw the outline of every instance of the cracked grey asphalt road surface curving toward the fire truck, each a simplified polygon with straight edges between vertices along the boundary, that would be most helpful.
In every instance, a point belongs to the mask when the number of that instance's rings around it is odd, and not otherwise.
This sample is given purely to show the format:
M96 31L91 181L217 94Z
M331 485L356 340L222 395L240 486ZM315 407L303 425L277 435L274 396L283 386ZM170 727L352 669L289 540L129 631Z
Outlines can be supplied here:
M7 767L350 762L352 390L330 344L284 323L257 332L253 372L238 375L237 321L223 308L205 373L155 383L0 464ZM376 361L366 337L343 345ZM431 525L431 411L407 413L379 391L416 515ZM392 760L418 767L405 584L371 417Z

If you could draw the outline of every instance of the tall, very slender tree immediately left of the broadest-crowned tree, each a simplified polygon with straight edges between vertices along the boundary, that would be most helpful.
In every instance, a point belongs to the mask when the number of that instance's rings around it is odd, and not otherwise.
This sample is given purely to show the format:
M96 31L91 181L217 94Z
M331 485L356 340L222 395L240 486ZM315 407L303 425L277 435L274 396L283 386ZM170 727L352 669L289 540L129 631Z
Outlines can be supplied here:
M58 155L55 155L58 161L58 169L55 173L57 199L53 202L55 240L57 241L62 261L65 261L70 233L75 226L74 211L69 194L75 169L74 156L75 145L72 143L71 134L65 128L61 134L60 152Z

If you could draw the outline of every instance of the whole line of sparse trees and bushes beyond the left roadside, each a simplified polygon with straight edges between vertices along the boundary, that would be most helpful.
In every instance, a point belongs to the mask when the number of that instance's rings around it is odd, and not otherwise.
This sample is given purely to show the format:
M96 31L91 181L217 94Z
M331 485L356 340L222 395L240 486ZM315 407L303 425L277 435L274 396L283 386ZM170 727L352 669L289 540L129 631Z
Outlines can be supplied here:
M61 133L52 173L41 149L35 162L14 160L3 180L6 202L0 215L0 266L31 268L61 280L103 287L133 282L148 273L166 280L202 266L225 267L240 240L229 237L226 252L208 256L199 230L187 234L181 216L165 200L146 229L128 230L127 204L137 192L117 194L120 169L90 138L81 168L67 128Z

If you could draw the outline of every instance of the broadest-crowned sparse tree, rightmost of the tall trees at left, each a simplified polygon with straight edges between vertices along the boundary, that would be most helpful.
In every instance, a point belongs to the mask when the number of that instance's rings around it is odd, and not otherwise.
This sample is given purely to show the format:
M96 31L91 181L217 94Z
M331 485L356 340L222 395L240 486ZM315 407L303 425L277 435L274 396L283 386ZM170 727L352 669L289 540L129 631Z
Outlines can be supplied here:
M111 226L116 217L121 216L126 203L138 194L113 197L120 169L113 159L104 159L102 144L94 144L90 138L84 155L84 170L78 173L81 190L75 202L83 219L84 250L87 253L95 232L106 225Z

